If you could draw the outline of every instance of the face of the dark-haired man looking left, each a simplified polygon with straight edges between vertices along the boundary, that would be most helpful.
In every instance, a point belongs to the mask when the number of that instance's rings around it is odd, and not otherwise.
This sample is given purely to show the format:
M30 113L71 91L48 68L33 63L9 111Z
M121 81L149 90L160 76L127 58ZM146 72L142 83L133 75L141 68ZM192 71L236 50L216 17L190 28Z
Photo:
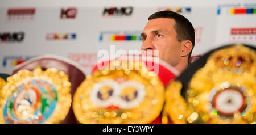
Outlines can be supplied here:
M159 50L158 57L161 60L176 66L179 63L182 48L181 43L176 39L175 23L171 18L149 20L141 34L142 52Z

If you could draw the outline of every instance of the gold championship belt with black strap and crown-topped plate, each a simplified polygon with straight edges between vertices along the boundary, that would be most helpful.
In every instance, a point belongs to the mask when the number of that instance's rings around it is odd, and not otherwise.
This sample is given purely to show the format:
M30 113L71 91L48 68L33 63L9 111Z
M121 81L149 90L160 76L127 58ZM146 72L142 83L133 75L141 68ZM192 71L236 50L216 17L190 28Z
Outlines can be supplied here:
M163 123L256 123L255 47L204 54L170 83Z

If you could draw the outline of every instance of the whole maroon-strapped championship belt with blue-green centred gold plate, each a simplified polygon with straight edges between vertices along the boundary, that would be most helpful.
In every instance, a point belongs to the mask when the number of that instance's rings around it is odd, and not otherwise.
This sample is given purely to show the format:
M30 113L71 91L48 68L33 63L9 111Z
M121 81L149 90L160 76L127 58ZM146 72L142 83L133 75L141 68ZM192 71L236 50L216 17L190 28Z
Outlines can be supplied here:
M75 123L72 94L84 79L79 66L59 56L16 66L1 93L0 123Z

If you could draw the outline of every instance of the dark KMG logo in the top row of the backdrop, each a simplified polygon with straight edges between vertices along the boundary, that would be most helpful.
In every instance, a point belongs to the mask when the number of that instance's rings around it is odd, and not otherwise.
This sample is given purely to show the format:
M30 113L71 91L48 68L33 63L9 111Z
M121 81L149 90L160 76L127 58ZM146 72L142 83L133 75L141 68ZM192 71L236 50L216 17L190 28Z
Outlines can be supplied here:
M133 7L105 7L102 16L130 16L131 14L133 14Z

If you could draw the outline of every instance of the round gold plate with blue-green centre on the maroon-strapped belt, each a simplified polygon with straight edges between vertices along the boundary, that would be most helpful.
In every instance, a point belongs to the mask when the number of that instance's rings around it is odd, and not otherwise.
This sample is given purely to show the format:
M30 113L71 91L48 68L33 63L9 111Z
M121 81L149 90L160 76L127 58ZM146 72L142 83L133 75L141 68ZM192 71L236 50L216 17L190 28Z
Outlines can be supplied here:
M0 123L61 123L71 106L70 86L55 68L18 71L1 91Z

